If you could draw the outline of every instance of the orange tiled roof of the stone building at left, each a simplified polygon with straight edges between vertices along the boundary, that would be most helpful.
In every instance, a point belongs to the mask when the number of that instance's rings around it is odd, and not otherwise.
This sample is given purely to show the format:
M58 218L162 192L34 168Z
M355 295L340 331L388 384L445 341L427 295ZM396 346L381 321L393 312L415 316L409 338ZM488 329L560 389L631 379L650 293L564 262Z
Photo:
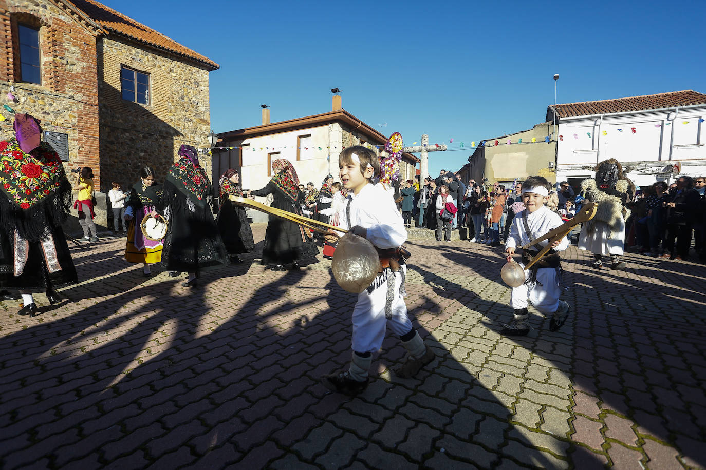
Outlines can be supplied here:
M109 32L116 35L128 37L137 42L149 44L158 49L164 49L180 56L185 56L193 61L203 63L211 70L220 68L220 66L210 58L198 54L188 47L184 47L174 39L162 35L161 32L152 30L152 28L138 23L132 18L119 13L112 8L98 3L95 0L63 0L66 4L73 4L76 9L85 13L88 18L95 21L98 25Z

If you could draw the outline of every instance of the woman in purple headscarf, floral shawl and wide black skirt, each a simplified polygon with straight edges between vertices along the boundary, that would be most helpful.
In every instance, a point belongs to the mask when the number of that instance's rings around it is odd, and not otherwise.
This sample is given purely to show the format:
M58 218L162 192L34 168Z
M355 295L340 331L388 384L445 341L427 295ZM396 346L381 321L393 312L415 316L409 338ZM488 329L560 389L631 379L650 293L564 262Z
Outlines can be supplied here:
M179 157L164 180L162 202L169 224L162 266L167 271L186 271L181 285L194 287L199 271L228 264L228 254L210 208L211 182L198 163L196 149L182 144Z

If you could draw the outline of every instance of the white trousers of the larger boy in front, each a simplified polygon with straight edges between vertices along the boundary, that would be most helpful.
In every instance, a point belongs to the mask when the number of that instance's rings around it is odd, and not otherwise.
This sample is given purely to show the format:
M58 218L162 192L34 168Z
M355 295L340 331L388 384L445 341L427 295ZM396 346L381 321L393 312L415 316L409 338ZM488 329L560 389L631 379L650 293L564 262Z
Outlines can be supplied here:
M407 266L402 265L402 270L407 273ZM401 336L412 330L412 322L407 316L407 305L405 297L400 294L402 286L402 273L393 273L390 269L385 269L388 278L384 279L383 274L373 280L371 286L375 287L373 292L364 290L358 295L353 309L353 340L352 347L356 352L377 352L383 346L385 339L385 328L390 326L390 330L395 335ZM388 283L395 283L392 301L392 317L385 317L385 302L388 295Z

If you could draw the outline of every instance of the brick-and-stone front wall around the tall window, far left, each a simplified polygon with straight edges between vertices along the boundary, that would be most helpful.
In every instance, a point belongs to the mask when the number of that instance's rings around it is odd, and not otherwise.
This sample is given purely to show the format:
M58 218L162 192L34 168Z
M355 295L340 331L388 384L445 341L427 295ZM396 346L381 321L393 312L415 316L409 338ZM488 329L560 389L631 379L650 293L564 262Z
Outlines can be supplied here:
M39 27L42 83L18 82L17 23ZM90 166L100 187L95 30L48 0L0 0L0 93L14 86L17 113L42 120L42 128L68 135L67 167ZM12 137L13 116L0 123Z

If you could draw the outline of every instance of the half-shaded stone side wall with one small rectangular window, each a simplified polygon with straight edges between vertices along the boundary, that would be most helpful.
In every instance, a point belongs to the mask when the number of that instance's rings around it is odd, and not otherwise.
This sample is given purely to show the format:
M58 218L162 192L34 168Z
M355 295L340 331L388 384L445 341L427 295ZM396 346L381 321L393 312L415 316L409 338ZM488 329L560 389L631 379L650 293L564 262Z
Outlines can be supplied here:
M101 168L124 189L152 166L164 180L181 144L203 146L210 132L208 70L139 44L104 37L97 44ZM121 66L150 75L148 104L121 97ZM201 156L210 171L210 156Z

